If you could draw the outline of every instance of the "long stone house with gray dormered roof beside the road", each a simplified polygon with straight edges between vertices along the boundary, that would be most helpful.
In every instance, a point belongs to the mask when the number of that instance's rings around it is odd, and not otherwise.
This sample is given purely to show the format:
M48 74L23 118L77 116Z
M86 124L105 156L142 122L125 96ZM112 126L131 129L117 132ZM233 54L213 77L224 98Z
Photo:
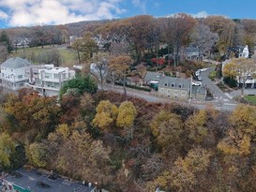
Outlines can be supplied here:
M190 95L191 82L188 79L164 76L159 81L158 93L175 100L187 101Z

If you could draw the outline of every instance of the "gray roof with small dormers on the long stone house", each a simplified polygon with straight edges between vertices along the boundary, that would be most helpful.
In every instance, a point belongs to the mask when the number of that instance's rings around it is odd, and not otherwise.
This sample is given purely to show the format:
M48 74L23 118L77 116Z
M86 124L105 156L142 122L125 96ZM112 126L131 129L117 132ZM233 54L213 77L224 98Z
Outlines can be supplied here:
M158 84L159 87L170 87L177 89L189 89L190 80L183 78L173 78L169 76L164 76ZM181 87L180 87L181 86Z

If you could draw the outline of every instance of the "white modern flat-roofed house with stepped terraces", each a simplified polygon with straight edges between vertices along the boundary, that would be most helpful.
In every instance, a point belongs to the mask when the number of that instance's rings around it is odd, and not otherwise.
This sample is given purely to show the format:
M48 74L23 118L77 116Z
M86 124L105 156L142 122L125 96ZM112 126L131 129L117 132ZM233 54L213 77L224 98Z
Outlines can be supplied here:
M58 96L63 83L75 77L75 71L53 65L31 66L26 76L30 80L27 86L37 90L40 95Z

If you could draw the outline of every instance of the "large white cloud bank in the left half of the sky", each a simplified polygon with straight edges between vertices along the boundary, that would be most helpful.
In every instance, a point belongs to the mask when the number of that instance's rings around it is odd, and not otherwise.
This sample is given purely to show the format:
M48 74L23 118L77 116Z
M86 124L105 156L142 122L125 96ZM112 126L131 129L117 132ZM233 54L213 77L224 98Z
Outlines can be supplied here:
M0 20L9 26L61 24L117 18L124 0L0 0Z

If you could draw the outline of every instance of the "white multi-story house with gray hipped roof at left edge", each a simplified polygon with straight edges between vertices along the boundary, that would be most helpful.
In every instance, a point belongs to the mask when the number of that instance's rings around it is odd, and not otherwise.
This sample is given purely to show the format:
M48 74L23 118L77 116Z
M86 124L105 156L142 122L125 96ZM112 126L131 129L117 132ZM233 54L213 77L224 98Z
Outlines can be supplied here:
M9 58L1 64L1 85L13 91L23 88L25 83L29 81L29 78L25 76L25 70L30 65L26 59L20 57Z

